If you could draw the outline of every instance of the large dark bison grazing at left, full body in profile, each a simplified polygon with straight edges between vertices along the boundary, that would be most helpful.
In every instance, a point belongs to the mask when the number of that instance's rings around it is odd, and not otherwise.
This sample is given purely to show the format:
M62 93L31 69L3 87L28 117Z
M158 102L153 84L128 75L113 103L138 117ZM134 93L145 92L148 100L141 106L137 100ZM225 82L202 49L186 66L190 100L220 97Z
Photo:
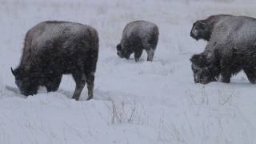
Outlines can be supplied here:
M22 94L37 94L38 86L56 91L62 74L72 74L78 100L87 83L93 98L94 72L98 60L98 33L74 22L41 22L26 33L19 66L12 71Z

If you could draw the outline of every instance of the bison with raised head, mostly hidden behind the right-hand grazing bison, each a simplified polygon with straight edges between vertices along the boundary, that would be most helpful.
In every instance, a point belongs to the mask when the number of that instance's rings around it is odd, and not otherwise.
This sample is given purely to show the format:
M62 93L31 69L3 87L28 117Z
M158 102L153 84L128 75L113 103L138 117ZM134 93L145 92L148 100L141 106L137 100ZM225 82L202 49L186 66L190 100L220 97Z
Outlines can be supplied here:
M228 14L212 15L209 18L206 18L204 20L198 20L197 22L194 22L192 29L190 31L190 36L197 41L199 39L204 39L206 41L209 41L210 35L212 33L212 30L214 29L215 24L220 20L222 20L223 18L227 18L227 17L232 17L232 15L228 15Z

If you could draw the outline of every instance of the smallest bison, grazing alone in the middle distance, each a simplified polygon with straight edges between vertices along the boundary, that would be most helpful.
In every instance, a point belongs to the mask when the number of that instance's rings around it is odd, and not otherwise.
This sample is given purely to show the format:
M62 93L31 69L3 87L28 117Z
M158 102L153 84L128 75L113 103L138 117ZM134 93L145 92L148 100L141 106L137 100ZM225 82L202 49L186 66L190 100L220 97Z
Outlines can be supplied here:
M135 61L146 50L147 61L153 61L154 51L158 44L158 26L152 22L135 21L126 25L122 32L122 40L117 46L118 56L120 58L130 58L134 53Z

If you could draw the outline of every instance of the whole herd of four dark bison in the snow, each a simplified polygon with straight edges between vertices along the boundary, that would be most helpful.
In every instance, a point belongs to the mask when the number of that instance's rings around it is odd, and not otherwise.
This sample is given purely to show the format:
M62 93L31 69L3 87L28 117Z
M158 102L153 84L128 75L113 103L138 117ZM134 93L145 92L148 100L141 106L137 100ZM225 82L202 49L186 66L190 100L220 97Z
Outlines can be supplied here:
M117 54L128 59L134 53L138 62L146 50L147 61L153 61L158 35L158 26L152 22L130 22L122 31ZM250 83L256 83L256 19L212 15L194 22L190 36L207 41L205 50L190 58L195 83L229 83L240 70ZM21 94L28 96L37 94L39 86L46 86L48 92L58 90L62 74L72 74L76 83L72 98L78 100L86 85L89 100L94 95L98 46L98 32L92 26L40 22L26 33L21 62L11 68L15 83Z

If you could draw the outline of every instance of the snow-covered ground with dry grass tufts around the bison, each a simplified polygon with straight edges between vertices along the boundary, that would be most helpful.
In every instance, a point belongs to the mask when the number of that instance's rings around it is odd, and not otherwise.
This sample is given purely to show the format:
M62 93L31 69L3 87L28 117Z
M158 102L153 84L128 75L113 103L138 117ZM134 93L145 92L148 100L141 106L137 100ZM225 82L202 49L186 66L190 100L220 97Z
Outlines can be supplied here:
M210 14L256 17L249 0L0 0L0 144L254 144L256 86L245 74L230 84L194 84L190 57L206 42L190 38L192 23ZM118 58L127 22L144 19L160 30L154 62ZM70 99L74 81L58 92L18 94L26 31L45 20L94 26L100 37L94 99L87 89Z

